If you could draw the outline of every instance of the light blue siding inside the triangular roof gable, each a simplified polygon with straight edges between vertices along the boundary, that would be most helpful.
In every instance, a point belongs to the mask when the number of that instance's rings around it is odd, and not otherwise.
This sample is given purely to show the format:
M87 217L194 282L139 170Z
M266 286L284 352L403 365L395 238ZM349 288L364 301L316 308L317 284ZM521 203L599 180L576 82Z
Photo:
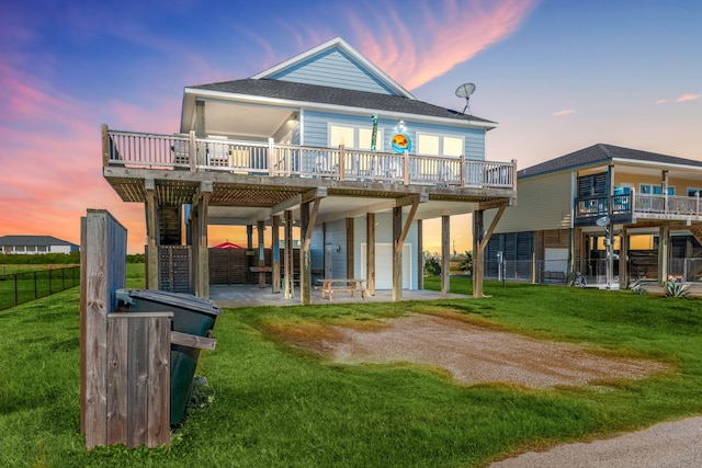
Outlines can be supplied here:
M270 77L273 80L318 84L382 94L396 94L358 61L338 49L308 58Z

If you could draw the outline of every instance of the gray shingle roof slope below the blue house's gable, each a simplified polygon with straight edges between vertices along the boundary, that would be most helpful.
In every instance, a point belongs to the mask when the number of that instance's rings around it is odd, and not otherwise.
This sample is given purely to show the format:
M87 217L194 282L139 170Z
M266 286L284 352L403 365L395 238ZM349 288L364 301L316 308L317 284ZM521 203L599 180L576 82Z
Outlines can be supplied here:
M418 100L411 100L405 96L322 87L318 84L296 83L292 81L268 79L254 80L248 78L244 80L223 81L219 83L199 84L188 88L495 124L495 122L487 121L485 118L462 114L457 111L452 111L450 109L444 109Z

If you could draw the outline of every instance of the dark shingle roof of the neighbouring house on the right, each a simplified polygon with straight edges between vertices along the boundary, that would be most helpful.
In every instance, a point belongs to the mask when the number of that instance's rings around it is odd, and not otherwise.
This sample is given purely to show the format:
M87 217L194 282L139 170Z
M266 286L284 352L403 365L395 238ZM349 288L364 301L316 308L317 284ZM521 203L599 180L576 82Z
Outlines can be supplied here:
M517 176L518 179L528 178L548 172L574 169L597 162L607 162L612 159L629 159L632 161L659 162L671 165L693 165L702 168L702 161L697 161L694 159L684 159L676 156L642 151L638 149L622 148L620 146L597 144L530 168L522 169L521 171L518 171Z

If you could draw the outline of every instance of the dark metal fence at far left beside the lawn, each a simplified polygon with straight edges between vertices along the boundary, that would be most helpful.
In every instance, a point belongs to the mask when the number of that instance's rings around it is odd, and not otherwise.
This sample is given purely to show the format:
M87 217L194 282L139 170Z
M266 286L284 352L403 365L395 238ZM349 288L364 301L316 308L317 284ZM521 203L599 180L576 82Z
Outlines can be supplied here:
M80 284L80 266L0 275L0 310Z

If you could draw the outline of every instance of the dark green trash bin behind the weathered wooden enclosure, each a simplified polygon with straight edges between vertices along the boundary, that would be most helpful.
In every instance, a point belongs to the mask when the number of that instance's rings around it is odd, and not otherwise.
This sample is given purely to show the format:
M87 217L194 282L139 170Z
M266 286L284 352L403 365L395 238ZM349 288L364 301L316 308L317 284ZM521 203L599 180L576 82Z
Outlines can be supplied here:
M117 289L116 296L129 312L173 312L174 331L199 336L207 336L222 313L213 301L190 294ZM171 344L171 424L185 416L199 359L200 349Z

